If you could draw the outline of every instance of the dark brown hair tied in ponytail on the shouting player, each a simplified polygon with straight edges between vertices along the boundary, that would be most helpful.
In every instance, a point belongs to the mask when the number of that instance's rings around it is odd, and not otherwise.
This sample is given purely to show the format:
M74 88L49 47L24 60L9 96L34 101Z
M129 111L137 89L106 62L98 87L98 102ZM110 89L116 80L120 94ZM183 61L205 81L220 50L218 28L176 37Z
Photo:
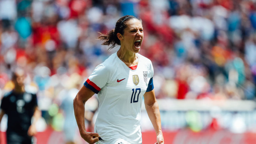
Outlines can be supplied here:
M142 20L140 18L136 18L132 15L125 15L122 18L118 19L116 22L115 29L110 30L107 34L101 34L98 38L104 41L102 45L111 45L108 49L113 49L116 45L121 45L120 40L117 38L117 33L121 35L124 34L124 29L127 27L127 21L131 19L138 19L140 22Z

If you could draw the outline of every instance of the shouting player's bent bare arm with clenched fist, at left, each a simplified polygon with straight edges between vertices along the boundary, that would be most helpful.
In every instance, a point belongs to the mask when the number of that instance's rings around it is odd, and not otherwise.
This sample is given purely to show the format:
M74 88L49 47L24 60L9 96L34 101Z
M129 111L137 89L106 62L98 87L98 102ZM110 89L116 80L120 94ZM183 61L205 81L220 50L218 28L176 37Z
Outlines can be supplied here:
M85 102L94 95L94 92L89 88L83 86L74 99L74 112L76 117L76 123L79 128L81 137L89 144L94 144L99 141L98 133L86 132L84 124L84 104Z

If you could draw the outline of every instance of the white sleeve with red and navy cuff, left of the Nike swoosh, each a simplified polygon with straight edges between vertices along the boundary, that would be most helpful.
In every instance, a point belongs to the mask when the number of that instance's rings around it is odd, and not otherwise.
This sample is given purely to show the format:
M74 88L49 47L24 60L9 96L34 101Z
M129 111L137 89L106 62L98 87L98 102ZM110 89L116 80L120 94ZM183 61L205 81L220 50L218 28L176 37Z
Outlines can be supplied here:
M88 77L86 82L84 82L84 86L98 94L101 88L104 87L108 82L108 73L108 69L104 65L98 65L94 69L93 73Z

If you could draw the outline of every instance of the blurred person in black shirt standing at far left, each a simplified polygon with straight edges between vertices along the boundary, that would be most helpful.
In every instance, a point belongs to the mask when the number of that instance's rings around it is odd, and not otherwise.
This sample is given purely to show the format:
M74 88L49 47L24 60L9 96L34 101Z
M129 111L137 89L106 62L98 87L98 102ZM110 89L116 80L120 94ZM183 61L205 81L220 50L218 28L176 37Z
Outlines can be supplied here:
M7 144L31 144L31 138L36 133L35 122L41 116L37 96L25 90L24 80L25 72L17 69L12 77L14 89L1 101L0 122L4 114L8 115ZM35 120L31 124L33 115Z

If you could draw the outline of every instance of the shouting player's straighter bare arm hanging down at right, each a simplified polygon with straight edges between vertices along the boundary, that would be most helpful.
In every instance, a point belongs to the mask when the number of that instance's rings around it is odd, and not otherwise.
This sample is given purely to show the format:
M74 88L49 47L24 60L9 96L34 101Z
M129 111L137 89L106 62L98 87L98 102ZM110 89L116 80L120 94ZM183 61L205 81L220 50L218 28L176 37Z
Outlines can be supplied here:
M161 128L161 117L158 108L157 100L155 99L155 90L145 92L144 103L147 110L148 117L153 124L155 133L157 134L157 143L163 144L163 133Z

